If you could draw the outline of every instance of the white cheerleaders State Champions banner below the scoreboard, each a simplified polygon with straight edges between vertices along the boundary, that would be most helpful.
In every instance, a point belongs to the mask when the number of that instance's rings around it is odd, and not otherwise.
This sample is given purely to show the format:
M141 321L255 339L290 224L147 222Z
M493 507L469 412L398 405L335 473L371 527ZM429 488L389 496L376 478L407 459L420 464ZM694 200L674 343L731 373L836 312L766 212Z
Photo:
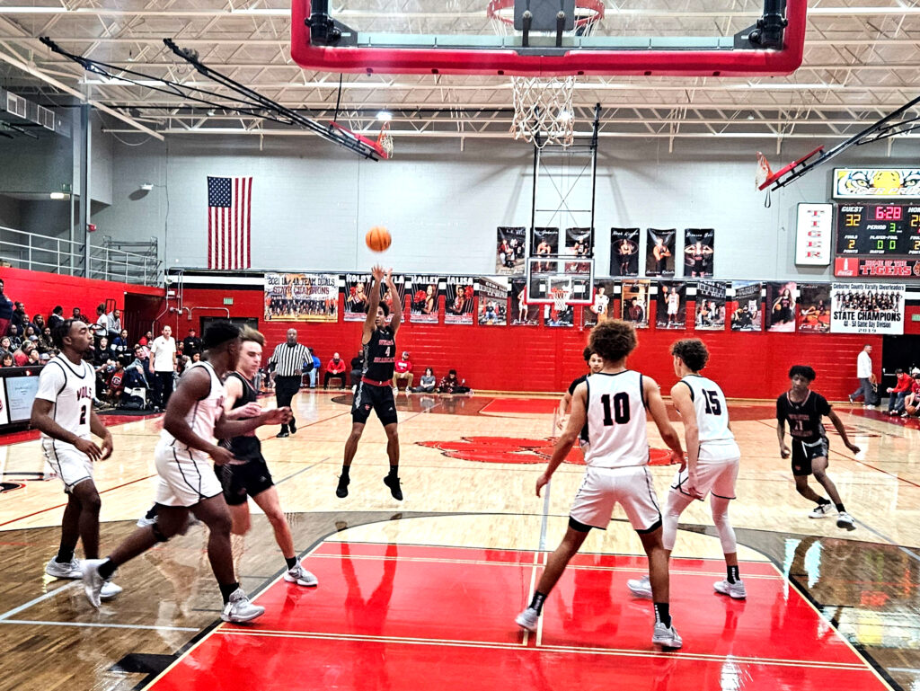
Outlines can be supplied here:
M903 283L834 283L831 333L902 335L904 288Z

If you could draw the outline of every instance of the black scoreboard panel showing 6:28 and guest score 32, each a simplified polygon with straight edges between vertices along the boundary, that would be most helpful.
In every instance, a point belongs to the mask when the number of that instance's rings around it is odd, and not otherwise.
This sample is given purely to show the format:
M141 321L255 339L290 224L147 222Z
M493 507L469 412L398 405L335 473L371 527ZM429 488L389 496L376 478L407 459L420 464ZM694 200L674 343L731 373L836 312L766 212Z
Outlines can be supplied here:
M920 204L838 204L837 256L920 258Z

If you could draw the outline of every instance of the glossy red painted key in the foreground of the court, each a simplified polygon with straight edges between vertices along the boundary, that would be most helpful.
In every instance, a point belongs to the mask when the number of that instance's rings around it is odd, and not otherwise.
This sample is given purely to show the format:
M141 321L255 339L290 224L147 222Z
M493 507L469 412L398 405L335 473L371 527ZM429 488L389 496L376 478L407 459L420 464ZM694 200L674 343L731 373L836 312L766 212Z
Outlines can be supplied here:
M651 605L627 593L645 560L579 555L525 635L513 617L543 555L326 543L315 590L279 581L265 616L222 625L152 688L558 689L888 688L770 564L742 563L746 601L712 592L721 561L673 559L680 651L651 645Z

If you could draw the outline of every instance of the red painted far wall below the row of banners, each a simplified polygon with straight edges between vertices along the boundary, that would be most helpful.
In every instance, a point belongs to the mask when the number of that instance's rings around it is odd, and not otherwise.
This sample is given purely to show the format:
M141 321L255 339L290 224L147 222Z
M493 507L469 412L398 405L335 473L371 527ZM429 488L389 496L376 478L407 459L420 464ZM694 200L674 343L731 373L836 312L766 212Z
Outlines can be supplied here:
M224 297L233 298L234 304L229 305L233 317L259 317L269 349L282 342L285 331L292 326L297 328L300 341L313 348L324 364L333 351L339 351L350 361L361 347L360 322L263 321L263 294L259 290L186 288L184 305L222 306ZM339 318L343 300L339 296ZM688 314L693 314L692 305L688 305ZM443 312L443 304L441 309ZM654 308L650 317L653 321ZM575 308L575 320L576 324L581 323L581 307ZM179 338L187 334L190 324L201 327L197 315L193 322L182 317L178 323ZM914 332L920 333L920 328ZM467 327L411 324L407 320L399 329L398 343L399 350L411 353L416 377L426 366L431 366L439 378L453 367L466 379L467 386L474 389L549 392L564 390L582 373L581 351L589 335L590 329L578 327ZM639 347L629 365L654 377L667 391L676 381L669 346L674 340L695 336L707 343L712 355L706 374L719 382L728 397L775 398L788 387L789 367L804 363L814 367L818 374L816 389L832 400L845 400L857 388L857 354L865 343L873 345L876 374L881 374L880 336L729 330L641 329Z

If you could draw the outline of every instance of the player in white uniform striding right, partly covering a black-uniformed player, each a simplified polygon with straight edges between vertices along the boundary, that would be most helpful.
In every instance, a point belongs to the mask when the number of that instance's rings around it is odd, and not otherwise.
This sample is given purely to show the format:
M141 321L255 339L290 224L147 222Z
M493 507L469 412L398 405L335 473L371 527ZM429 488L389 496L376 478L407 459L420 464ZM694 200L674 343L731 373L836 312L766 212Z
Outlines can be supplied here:
M182 375L169 397L156 445L154 460L160 477L156 522L135 530L108 559L84 562L83 582L90 604L99 606L99 587L104 579L129 559L182 532L192 512L210 530L208 559L224 598L221 618L251 621L265 612L264 607L249 602L236 581L230 547L232 520L211 465L212 460L219 466L233 463L235 457L230 449L214 443L214 437L229 439L261 425L286 423L291 409L267 410L249 420L226 419L221 380L236 368L239 348L239 329L229 322L217 322L205 332L205 360Z

